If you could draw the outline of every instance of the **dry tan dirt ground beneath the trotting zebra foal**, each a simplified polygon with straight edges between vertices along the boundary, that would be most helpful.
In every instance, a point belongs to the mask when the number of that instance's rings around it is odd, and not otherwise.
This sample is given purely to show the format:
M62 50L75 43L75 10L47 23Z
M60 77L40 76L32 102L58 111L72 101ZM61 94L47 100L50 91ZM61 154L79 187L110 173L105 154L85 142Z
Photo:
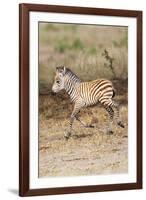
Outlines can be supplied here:
M118 94L125 128L113 125L105 133L108 114L100 105L84 108L81 119L95 128L74 122L72 137L65 140L73 105L64 93L39 97L39 177L98 175L128 172L127 93Z

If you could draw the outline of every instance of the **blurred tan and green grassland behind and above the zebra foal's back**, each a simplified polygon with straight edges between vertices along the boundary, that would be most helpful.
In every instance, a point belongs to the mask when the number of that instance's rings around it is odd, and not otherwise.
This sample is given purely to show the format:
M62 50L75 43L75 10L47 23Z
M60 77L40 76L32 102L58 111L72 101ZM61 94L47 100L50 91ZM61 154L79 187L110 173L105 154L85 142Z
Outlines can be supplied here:
M50 91L56 66L83 81L127 80L127 61L127 27L39 23L40 94Z

